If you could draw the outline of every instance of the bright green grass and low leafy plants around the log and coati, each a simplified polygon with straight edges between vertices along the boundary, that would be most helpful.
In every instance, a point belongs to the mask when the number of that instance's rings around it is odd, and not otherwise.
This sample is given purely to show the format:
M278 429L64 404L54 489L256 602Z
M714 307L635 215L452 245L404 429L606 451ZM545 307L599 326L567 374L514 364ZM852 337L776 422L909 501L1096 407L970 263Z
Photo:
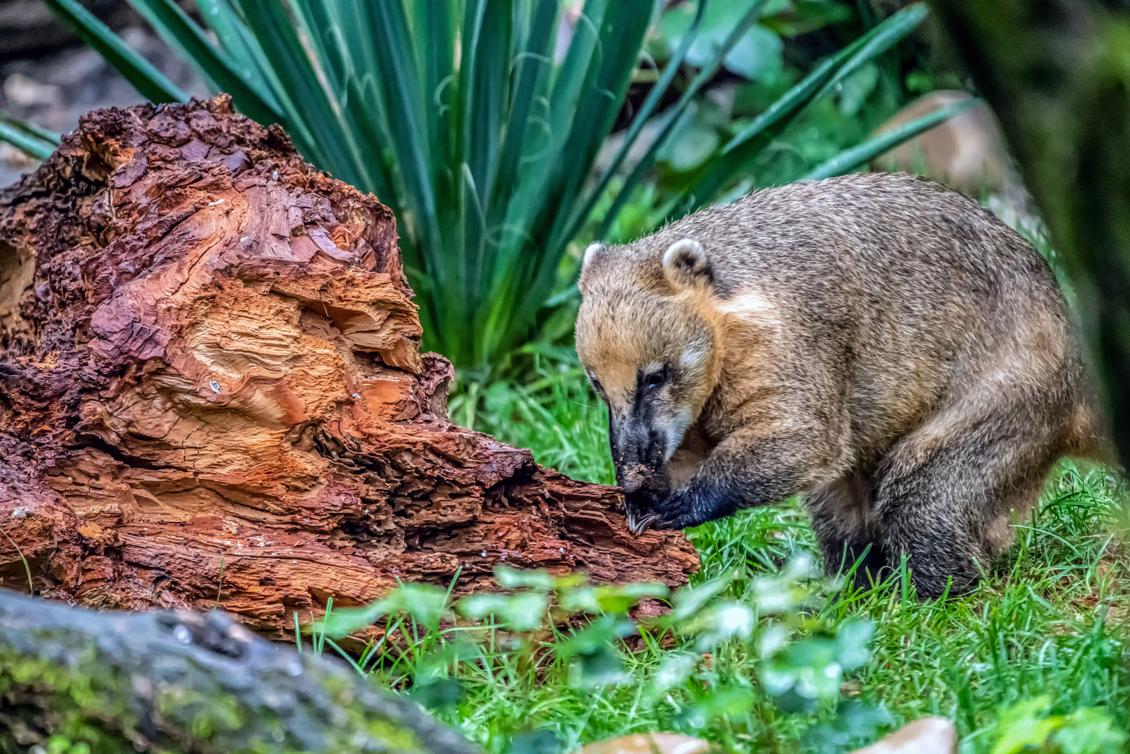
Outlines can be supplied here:
M606 413L580 370L541 359L536 373L527 385L462 389L452 418L608 482ZM1104 469L1062 462L1038 509L1016 522L1009 555L975 592L946 603L918 601L898 574L855 592L814 577L807 514L790 501L688 531L703 563L698 591L676 595L676 617L644 623L638 636L618 639L632 630L618 592L576 613L572 630L533 630L551 591L560 605L597 592L503 573L522 587L515 597L459 605L486 626L457 618L436 631L445 609L454 614L445 595L418 587L379 605L360 623L383 619L407 642L374 647L362 665L498 754L571 752L647 730L734 752L844 752L927 714L957 723L963 754L1125 751L1125 500ZM703 590L710 598L678 617ZM869 626L870 652L852 655Z

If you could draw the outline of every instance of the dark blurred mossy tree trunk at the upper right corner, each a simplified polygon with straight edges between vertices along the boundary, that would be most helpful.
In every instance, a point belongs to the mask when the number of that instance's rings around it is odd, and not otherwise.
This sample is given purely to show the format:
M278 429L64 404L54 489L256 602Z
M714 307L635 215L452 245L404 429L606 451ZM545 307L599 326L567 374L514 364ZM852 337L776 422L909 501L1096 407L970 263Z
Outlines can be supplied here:
M1130 11L1094 0L935 0L1000 118L1076 291L1130 462Z

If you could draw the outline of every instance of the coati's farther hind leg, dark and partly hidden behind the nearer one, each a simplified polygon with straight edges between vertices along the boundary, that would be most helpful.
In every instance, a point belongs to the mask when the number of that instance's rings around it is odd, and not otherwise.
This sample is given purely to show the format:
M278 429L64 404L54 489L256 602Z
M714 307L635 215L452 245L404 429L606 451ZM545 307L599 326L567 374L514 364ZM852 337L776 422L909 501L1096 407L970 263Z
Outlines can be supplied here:
M853 581L860 588L886 577L887 558L875 520L875 491L867 473L853 470L812 489L805 495L805 504L812 514L812 531L828 575L854 569Z

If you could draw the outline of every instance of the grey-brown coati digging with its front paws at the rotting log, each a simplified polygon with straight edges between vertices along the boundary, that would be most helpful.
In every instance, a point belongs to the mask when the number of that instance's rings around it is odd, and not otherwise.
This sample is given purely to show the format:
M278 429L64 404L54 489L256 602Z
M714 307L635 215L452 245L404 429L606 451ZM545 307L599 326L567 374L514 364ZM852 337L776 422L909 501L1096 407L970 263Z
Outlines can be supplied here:
M805 493L829 571L906 555L920 597L958 593L1092 445L1048 263L924 179L758 191L591 245L580 289L576 349L636 534Z

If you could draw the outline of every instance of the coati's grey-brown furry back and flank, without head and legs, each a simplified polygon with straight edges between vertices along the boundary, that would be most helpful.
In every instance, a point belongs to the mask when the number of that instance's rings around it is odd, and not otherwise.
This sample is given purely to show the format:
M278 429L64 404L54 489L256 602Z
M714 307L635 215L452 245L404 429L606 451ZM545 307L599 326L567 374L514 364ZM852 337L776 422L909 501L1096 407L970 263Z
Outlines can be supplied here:
M1060 453L1093 434L1051 269L955 191L868 173L794 183L673 223L632 255L662 257L685 237L707 250L716 296L772 303L783 350L766 366L838 404L826 410L850 425L857 460L982 391L1015 392L1018 411L1061 426Z

